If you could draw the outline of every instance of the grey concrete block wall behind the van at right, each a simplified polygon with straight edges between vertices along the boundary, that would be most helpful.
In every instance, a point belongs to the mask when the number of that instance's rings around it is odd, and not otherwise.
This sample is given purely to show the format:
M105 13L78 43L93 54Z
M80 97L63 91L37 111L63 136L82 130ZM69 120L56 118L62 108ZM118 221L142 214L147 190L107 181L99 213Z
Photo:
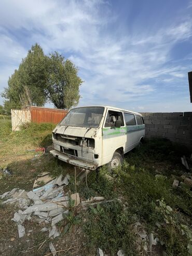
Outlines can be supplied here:
M146 138L167 138L192 148L192 112L141 114Z

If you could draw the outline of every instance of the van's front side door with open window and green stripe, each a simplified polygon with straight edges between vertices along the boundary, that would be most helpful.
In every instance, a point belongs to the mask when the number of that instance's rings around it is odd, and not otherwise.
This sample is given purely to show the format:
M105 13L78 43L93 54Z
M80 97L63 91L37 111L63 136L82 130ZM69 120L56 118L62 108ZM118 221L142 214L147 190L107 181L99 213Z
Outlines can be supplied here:
M121 121L121 126L116 127L116 121ZM111 161L114 152L126 145L126 126L122 112L116 110L107 110L105 122L102 129L102 165Z

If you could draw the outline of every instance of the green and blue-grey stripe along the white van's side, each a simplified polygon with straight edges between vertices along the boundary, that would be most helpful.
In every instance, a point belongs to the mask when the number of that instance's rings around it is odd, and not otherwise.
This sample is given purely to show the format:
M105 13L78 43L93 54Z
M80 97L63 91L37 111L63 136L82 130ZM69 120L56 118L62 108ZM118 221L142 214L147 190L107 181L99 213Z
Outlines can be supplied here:
M103 128L103 139L124 136L129 132L134 132L138 130L145 129L145 125L134 125L134 126L126 126L126 127L114 127L114 128Z

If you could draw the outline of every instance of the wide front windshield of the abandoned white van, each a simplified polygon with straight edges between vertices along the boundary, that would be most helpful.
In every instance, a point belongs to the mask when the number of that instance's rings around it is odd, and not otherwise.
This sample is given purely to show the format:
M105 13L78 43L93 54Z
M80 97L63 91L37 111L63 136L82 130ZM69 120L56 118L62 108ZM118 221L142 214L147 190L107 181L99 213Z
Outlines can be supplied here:
M59 125L97 128L103 112L102 106L78 107L68 112Z

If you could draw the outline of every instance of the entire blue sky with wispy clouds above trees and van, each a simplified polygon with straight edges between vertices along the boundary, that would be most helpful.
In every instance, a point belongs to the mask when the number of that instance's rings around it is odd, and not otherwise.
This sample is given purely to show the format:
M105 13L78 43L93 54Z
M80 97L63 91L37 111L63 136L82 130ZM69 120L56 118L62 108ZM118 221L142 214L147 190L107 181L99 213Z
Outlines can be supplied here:
M78 66L80 106L192 109L191 0L2 0L0 38L0 91L37 42Z

